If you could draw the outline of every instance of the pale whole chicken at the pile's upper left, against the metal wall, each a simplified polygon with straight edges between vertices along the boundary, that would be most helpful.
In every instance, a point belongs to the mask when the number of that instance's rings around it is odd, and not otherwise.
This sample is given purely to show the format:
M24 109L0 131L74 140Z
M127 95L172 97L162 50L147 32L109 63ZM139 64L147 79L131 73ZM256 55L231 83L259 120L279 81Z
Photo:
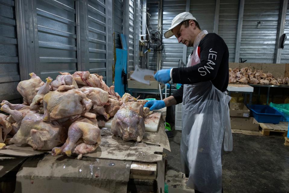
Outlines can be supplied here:
M25 105L30 105L32 103L34 96L44 84L44 82L33 72L29 75L31 77L29 80L19 82L17 86L18 92L23 96Z

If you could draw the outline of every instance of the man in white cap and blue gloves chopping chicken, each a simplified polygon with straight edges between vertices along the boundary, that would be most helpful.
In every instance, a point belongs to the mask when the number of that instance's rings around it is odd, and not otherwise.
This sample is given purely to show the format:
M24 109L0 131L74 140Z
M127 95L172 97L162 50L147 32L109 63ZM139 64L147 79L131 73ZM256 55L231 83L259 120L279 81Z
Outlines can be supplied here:
M172 80L183 86L164 100L152 100L145 107L161 109L183 103L181 168L187 186L195 192L222 192L222 145L232 150L228 111L228 47L215 33L201 30L188 12L178 14L164 36L176 36L179 43L193 47L187 67L159 70L154 78Z

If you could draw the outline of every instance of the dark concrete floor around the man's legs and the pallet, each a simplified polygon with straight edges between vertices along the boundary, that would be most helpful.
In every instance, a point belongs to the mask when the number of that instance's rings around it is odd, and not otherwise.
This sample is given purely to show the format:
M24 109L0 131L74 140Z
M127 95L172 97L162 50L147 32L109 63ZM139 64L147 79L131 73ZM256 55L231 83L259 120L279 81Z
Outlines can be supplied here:
M180 170L181 131L169 138L168 169ZM289 147L284 138L233 133L233 151L223 154L224 192L288 192Z

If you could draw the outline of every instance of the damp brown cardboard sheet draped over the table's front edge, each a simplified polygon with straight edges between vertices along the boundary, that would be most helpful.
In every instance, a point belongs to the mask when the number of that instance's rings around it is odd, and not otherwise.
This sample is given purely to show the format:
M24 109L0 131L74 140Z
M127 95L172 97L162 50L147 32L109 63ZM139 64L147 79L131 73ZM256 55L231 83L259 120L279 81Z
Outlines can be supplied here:
M130 161L47 154L33 157L17 173L15 192L112 192L126 193Z

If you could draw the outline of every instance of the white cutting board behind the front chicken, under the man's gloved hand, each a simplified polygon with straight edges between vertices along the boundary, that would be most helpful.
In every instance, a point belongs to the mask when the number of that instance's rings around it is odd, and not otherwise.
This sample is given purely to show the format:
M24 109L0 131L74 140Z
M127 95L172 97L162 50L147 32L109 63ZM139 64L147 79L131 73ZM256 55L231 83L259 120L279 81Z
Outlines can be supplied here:
M155 111L144 119L146 131L157 131L162 112ZM112 128L112 119L105 123L106 128Z

